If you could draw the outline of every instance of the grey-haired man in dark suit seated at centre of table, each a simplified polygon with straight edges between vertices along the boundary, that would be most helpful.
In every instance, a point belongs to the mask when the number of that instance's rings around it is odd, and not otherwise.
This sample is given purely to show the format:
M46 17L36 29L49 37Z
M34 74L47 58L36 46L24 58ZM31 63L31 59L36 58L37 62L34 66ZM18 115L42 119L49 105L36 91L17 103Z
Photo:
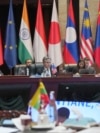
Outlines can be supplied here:
M37 68L36 68L37 69ZM43 58L43 67L36 70L36 74L41 75L41 77L52 77L56 75L57 69L54 65L51 64L50 57Z

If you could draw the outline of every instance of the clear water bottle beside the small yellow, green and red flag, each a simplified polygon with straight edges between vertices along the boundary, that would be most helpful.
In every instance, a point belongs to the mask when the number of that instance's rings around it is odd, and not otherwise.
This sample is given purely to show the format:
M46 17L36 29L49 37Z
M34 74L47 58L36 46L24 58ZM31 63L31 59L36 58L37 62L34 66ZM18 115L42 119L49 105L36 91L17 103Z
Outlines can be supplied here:
M49 118L50 122L57 122L57 108L56 108L56 100L55 100L55 92L50 92L50 102L49 102Z

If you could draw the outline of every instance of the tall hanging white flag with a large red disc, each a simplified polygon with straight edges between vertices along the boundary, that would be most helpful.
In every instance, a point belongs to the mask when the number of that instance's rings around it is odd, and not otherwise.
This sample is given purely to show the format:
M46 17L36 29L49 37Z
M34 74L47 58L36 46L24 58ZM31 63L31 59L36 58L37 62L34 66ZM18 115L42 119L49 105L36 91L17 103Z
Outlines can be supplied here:
M55 0L53 0L53 9L48 42L48 55L51 58L52 63L54 63L56 67L63 63L60 27L58 23L58 14Z

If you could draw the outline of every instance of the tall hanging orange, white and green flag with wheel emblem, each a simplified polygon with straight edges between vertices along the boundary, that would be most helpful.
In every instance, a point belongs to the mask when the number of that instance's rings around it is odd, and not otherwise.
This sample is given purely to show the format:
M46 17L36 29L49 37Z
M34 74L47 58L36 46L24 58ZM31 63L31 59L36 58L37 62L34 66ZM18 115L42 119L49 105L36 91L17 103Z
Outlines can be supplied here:
M26 0L24 0L23 4L23 12L19 32L18 56L22 64L25 63L27 59L33 60L32 40Z

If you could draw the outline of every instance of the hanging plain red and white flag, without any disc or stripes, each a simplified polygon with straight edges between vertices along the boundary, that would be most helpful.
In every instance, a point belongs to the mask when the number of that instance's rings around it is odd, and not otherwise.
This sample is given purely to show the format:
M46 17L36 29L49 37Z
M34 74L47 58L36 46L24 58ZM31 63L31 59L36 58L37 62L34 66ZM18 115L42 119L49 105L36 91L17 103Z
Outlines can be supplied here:
M33 40L33 51L35 62L42 62L43 57L47 56L47 41L44 30L44 21L40 0L38 0L36 25Z

